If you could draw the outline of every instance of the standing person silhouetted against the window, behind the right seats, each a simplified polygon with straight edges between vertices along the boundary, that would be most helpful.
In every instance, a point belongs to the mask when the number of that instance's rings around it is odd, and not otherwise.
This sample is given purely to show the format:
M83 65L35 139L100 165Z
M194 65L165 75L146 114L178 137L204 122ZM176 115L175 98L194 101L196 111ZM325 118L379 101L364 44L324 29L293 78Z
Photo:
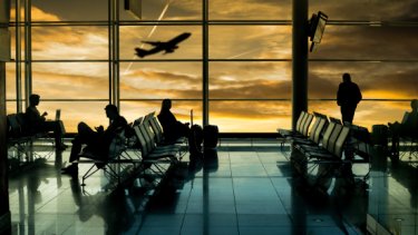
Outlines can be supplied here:
M342 75L342 82L338 87L337 104L341 107L342 123L352 124L357 105L362 99L361 91L357 84L351 81L350 74Z

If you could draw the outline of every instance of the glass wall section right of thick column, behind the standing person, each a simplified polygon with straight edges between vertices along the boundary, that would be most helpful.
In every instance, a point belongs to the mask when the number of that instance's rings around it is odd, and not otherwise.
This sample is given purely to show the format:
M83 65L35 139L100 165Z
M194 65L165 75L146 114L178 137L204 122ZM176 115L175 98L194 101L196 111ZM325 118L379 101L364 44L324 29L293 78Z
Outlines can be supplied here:
M309 109L340 117L337 90L349 72L362 91L354 123L401 120L418 98L416 1L311 1L329 16L318 50L310 53ZM361 6L361 7L359 7Z

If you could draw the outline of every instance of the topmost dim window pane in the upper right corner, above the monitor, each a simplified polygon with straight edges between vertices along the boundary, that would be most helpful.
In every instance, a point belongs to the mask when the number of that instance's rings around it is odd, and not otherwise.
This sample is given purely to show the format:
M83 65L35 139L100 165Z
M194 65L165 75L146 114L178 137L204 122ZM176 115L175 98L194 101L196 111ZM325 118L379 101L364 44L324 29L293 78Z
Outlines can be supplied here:
M414 20L417 1L317 0L310 12L325 12L332 20Z

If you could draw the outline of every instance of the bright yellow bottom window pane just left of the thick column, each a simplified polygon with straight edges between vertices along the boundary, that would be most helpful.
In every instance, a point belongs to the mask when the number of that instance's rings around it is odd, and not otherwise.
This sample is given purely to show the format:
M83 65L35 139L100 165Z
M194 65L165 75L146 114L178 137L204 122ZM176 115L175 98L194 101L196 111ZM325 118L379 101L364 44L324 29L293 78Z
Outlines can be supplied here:
M275 133L291 127L290 101L211 101L210 121L221 133Z

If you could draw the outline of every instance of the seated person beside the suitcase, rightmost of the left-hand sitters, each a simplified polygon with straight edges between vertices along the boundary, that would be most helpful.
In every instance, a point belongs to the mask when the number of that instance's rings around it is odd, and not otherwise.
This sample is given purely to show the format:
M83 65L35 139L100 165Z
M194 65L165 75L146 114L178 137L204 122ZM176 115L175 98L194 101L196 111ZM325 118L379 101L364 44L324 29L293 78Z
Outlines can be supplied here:
M162 124L164 131L164 140L166 143L175 143L179 137L188 137L189 127L188 123L181 123L176 119L173 112L169 110L172 108L172 100L164 99L162 102L162 109L157 116L159 123Z

